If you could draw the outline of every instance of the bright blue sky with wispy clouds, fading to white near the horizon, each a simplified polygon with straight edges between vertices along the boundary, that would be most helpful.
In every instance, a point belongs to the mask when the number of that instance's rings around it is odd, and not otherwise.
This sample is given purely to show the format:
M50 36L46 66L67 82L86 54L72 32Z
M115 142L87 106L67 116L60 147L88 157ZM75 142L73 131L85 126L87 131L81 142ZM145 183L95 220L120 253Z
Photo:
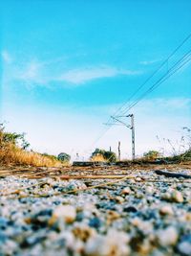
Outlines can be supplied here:
M25 131L36 151L86 157L95 147L117 151L120 140L123 157L129 157L125 128L111 128L94 141L108 117L191 33L191 1L4 0L0 5L1 114L7 128ZM190 48L191 40L140 94ZM186 65L131 109L138 154L161 148L156 135L178 144L181 128L191 126L190 71Z

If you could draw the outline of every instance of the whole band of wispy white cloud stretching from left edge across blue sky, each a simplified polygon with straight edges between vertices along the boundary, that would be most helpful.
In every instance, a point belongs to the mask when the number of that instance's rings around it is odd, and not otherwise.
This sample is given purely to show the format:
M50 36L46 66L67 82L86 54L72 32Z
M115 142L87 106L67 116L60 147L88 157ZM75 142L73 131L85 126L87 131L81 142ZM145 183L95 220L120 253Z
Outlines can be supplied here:
M6 63L12 63L12 58L8 51L5 50L2 52L2 58ZM17 63L14 62L8 66L7 73L4 72L4 79L6 81L23 81L26 85L30 86L49 86L53 81L58 81L61 82L63 86L68 86L72 84L83 85L88 81L114 78L121 75L136 76L142 74L139 70L129 70L102 63L95 66L69 69L66 63L63 62L66 58L67 57L61 57L46 61L33 58L28 62L26 60L21 60Z

